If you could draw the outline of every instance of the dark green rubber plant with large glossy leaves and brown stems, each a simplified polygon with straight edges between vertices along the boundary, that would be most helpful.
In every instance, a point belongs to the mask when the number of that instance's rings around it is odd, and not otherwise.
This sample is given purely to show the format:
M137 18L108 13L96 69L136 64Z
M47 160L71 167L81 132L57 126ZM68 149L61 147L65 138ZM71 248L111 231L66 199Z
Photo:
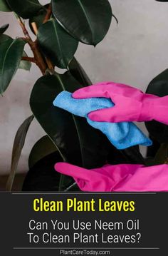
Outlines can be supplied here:
M145 164L137 146L117 150L105 135L91 128L83 118L52 106L53 99L61 91L73 92L91 84L74 54L79 42L96 46L107 34L111 19L115 18L109 1L52 0L42 6L38 0L0 0L0 11L13 11L14 19L19 21L23 31L23 37L11 39L5 34L9 24L0 29L1 93L5 96L19 67L29 70L34 62L42 74L32 88L30 107L33 115L16 133L6 189L12 189L26 133L34 117L47 135L30 153L30 171L23 190L77 189L72 179L52 170L53 163L60 160L85 168L99 167L106 161ZM31 31L36 35L35 41L26 29L25 19L29 20ZM33 57L24 52L26 44L30 46ZM67 71L60 74L55 67Z

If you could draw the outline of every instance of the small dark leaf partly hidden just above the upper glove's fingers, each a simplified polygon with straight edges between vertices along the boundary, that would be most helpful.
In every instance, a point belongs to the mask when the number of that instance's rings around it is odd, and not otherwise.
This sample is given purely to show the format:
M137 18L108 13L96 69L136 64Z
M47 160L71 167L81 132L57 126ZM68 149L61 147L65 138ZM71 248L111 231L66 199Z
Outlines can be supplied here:
M85 73L83 67L78 63L75 57L70 61L68 69L82 86L91 86L92 82L90 81L90 78L88 78L87 73Z

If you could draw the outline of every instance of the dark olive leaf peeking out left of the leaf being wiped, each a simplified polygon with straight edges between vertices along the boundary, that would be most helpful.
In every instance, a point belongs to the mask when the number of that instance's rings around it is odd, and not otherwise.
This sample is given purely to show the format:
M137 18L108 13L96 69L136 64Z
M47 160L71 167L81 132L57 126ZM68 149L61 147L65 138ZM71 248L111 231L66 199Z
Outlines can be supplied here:
M28 158L29 168L32 168L39 160L56 151L56 145L54 145L53 141L48 137L48 135L43 136L36 142L31 150Z

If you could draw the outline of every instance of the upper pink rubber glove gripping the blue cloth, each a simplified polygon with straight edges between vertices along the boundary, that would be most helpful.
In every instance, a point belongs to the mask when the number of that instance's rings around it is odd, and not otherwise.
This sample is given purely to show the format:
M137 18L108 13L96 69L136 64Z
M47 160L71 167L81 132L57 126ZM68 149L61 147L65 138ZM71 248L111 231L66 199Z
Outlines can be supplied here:
M88 116L98 122L130 122L156 120L168 125L168 96L145 94L121 83L104 82L81 88L73 98L111 98L115 106L93 111Z

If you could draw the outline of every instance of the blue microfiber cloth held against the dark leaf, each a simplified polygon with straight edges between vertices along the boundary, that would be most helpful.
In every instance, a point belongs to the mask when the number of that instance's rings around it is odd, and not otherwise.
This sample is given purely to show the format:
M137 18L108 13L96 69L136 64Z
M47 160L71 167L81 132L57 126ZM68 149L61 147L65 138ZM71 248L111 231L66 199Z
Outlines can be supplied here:
M134 123L95 122L88 118L88 113L92 111L114 106L114 103L109 98L75 99L72 97L72 93L62 91L53 101L53 105L63 108L65 111L73 113L73 115L85 117L90 126L101 130L117 149L130 148L139 144L152 145L152 140L149 140Z

